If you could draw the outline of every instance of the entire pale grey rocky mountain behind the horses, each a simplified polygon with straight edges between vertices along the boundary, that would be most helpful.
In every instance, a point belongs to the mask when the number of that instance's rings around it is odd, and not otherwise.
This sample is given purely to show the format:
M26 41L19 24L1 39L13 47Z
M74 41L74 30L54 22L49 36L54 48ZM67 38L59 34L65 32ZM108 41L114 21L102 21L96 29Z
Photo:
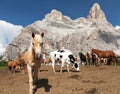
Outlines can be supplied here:
M36 21L24 29L7 47L4 57L13 59L24 53L30 45L31 32L45 33L44 50L67 48L75 55L86 53L92 48L120 51L120 30L116 30L95 3L87 17L72 20L53 9L43 20ZM118 53L117 53L118 54Z

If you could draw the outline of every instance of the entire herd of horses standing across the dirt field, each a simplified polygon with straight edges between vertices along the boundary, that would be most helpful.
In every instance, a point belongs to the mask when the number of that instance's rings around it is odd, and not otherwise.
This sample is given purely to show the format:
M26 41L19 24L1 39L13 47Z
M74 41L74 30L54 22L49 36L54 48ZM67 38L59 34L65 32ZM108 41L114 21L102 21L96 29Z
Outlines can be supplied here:
M62 73L62 68L64 65L67 66L67 71L70 72L69 66L72 65L72 68L76 71L79 71L79 65L95 65L101 64L104 59L106 64L110 64L112 61L114 65L117 64L116 55L113 51L101 51L97 49L92 49L90 52L87 52L85 55L79 53L79 59L76 58L70 50L60 49L50 52L48 58L45 58L45 52L43 52L43 42L44 42L44 33L40 34L31 34L31 45L28 50L20 55L17 60L9 61L8 67L9 72L12 70L22 69L23 71L27 69L29 77L29 94L35 93L34 82L38 80L38 71L42 63L50 63L55 72L55 63L61 63L60 73ZM81 62L78 62L80 60ZM21 67L19 67L21 65Z

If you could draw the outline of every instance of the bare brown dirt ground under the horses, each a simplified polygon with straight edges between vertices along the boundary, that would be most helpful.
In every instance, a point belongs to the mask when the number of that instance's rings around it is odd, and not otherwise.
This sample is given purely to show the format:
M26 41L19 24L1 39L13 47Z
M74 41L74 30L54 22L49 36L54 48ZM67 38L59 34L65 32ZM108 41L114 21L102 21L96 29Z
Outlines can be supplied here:
M42 66L35 94L120 94L120 66L82 66L80 72L54 74ZM0 94L28 94L28 75L0 71Z

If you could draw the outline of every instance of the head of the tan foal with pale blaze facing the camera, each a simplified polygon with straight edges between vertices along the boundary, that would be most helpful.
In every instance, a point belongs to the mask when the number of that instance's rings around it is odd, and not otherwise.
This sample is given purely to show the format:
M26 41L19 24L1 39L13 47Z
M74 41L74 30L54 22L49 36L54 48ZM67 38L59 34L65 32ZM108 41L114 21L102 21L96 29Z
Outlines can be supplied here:
M44 37L43 32L41 32L40 34L32 33L32 48L36 59L39 59L42 55L41 50L43 48L43 37Z

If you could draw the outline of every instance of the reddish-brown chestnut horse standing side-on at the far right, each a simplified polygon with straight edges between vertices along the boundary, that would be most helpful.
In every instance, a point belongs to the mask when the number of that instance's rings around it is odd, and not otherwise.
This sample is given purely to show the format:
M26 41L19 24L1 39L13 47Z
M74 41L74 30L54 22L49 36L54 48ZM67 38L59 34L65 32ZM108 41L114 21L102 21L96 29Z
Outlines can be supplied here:
M100 59L101 58L111 58L111 61L114 63L114 65L116 65L118 63L115 53L111 50L102 51L102 50L98 50L98 49L92 49L91 52L95 53Z

